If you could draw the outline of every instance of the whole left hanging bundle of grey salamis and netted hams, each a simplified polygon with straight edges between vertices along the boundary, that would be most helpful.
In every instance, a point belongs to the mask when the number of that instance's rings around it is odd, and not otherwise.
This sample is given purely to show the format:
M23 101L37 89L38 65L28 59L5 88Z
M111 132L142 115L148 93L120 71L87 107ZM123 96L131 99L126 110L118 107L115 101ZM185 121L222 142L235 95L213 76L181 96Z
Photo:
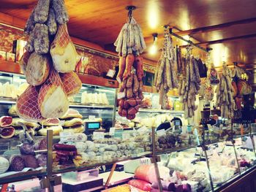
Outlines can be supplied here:
M24 31L29 40L20 66L30 86L17 100L20 118L39 122L60 118L69 108L67 96L80 91L80 79L72 72L77 53L68 20L63 0L39 0L27 20Z

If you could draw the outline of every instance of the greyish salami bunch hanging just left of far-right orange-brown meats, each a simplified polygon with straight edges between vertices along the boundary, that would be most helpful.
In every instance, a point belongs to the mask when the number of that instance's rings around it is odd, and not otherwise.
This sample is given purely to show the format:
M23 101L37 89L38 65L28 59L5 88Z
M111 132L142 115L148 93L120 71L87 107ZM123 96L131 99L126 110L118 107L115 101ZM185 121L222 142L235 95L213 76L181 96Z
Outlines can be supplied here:
M217 86L216 106L220 107L222 118L233 118L233 90L231 84L231 71L223 65L222 75Z

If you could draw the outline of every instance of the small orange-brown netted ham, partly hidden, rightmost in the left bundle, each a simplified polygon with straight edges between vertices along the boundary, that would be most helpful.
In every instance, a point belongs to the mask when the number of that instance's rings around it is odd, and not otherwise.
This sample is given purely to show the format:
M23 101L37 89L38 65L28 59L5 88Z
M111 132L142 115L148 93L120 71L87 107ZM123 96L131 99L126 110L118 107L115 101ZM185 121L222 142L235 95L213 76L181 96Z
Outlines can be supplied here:
M79 93L80 88L82 87L82 82L78 77L78 74L75 72L62 73L59 74L61 77L61 81L64 85L64 90L67 93L67 96L75 95Z

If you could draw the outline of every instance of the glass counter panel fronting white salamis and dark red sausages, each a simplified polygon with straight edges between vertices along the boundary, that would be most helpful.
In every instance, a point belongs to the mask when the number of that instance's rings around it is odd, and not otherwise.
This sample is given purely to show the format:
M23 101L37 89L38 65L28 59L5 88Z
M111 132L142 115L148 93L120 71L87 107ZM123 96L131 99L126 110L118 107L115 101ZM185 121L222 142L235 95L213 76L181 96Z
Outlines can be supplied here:
M89 169L151 154L151 132L119 129L112 137L99 131L65 134L53 148L53 172Z

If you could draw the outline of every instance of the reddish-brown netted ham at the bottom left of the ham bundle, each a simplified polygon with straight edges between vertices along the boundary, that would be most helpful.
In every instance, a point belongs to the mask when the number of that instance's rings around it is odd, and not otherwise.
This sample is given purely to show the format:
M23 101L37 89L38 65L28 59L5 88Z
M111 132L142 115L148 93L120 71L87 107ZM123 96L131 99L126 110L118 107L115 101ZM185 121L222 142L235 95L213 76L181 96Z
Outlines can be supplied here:
M29 88L17 99L17 113L25 120L41 121L42 115L37 104L39 87L29 85Z

